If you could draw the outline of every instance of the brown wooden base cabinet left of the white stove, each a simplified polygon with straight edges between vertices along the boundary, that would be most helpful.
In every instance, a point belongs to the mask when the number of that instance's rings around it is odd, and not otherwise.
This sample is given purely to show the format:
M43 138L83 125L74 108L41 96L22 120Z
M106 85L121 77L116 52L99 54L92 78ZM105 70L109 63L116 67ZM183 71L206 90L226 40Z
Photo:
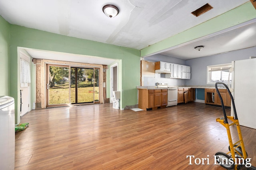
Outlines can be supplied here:
M143 110L167 106L167 89L138 89L138 107Z

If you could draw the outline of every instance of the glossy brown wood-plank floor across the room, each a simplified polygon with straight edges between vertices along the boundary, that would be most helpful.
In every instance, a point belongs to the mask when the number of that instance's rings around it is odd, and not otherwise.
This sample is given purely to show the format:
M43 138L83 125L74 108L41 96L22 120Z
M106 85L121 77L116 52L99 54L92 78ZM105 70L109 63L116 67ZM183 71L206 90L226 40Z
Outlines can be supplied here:
M196 102L137 112L111 104L33 110L21 118L29 127L16 133L15 169L224 170L214 165L229 146L221 116L221 108ZM256 166L256 129L241 130ZM189 155L209 164L189 165Z

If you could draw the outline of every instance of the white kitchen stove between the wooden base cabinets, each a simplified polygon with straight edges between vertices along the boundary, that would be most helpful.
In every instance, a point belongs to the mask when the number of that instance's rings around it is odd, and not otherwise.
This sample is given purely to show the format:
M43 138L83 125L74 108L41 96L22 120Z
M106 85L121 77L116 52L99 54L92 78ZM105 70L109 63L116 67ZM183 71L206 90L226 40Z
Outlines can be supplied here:
M178 104L178 88L171 87L168 83L157 83L158 88L168 88L168 106L175 106Z

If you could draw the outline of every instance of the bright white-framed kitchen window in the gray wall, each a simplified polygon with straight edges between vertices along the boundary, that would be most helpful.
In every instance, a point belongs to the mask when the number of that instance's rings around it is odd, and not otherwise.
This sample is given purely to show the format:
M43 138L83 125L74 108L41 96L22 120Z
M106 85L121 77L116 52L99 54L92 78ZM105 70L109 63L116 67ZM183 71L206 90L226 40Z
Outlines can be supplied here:
M232 73L230 68L231 63L207 66L207 84L215 84L216 82L231 83Z

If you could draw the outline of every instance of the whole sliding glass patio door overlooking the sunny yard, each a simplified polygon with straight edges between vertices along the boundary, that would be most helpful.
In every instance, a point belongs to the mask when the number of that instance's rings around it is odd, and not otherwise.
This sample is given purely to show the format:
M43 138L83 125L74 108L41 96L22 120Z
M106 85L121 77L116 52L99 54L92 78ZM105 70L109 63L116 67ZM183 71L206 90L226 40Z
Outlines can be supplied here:
M99 89L99 68L48 64L48 107L99 103Z

